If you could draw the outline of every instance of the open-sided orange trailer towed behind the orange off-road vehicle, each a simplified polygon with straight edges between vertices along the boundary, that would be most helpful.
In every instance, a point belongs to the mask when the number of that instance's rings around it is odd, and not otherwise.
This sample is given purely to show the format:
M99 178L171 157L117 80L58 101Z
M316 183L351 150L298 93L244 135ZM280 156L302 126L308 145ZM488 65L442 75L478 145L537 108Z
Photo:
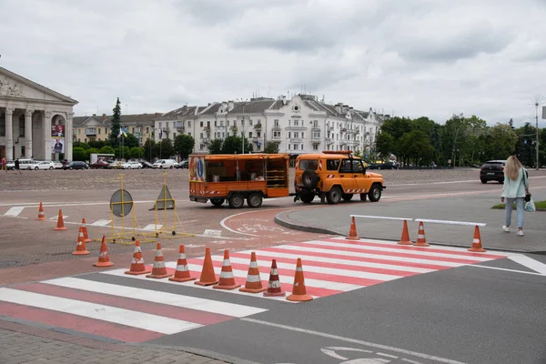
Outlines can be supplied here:
M214 206L258 208L263 198L287 197L287 154L189 156L189 199Z

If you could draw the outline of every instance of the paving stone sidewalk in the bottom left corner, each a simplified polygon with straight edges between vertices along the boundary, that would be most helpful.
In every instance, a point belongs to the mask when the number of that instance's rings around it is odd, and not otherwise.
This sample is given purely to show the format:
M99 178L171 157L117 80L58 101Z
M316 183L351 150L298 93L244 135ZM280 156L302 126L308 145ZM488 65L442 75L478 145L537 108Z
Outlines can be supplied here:
M112 344L0 319L2 364L223 364L177 349Z

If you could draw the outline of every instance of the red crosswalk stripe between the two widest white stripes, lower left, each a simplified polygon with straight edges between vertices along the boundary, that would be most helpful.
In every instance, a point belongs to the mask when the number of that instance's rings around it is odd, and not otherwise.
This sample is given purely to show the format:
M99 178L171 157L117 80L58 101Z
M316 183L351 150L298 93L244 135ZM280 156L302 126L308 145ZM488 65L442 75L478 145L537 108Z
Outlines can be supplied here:
M45 283L30 283L22 286L16 286L15 289L42 293L48 296L77 299L80 301L112 306L116 308L125 308L132 311L163 316L169 319L181 319L183 321L194 322L201 325L212 325L234 319L231 316L199 311L192 308L180 308L136 298L117 297L102 293L89 292L83 289L66 288Z

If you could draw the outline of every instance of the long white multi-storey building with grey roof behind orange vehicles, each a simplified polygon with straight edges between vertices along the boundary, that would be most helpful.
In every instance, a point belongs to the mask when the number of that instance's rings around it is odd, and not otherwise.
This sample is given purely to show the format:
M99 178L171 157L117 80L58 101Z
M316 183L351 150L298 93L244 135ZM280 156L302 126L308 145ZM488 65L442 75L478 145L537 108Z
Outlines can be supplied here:
M208 153L212 139L231 135L247 137L255 152L274 142L280 153L291 155L322 150L365 153L375 145L379 127L388 117L371 108L364 112L342 103L328 105L309 95L290 100L258 97L180 107L157 118L154 136L157 141L174 133L194 136L195 153Z

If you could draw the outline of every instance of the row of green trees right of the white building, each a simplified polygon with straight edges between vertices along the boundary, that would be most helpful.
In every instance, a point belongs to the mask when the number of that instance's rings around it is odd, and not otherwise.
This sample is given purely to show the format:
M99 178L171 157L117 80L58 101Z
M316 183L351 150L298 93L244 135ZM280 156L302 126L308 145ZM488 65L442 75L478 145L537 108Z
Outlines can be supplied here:
M546 128L539 130L540 165L546 165ZM536 128L531 123L515 128L513 121L488 126L478 116L453 115L444 125L426 116L391 117L377 136L376 152L394 155L402 165L472 166L515 154L529 167L536 164ZM542 147L543 146L543 147Z

